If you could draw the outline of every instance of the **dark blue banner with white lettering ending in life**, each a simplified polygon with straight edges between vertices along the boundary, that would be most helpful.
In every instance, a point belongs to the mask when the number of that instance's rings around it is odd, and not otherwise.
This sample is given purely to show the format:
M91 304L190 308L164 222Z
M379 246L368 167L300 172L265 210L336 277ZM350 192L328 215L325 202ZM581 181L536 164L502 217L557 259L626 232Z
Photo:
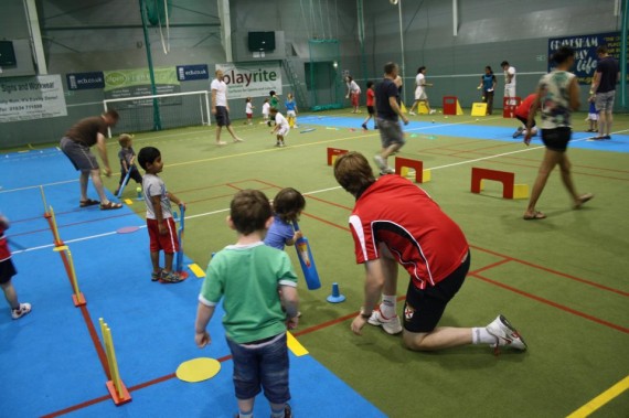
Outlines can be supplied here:
M575 50L575 65L572 72L577 76L579 84L591 84L591 77L598 64L596 49L599 45L607 45L609 55L620 61L620 32L551 37L548 39L548 72L555 68L551 60L553 54L564 45Z

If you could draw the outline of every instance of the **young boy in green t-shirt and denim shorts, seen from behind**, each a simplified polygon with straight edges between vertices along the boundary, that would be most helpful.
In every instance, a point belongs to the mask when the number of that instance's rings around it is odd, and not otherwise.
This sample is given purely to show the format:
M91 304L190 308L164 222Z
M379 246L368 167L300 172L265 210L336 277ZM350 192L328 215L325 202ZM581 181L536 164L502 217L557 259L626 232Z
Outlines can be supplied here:
M299 321L297 276L286 253L262 242L271 223L273 212L263 192L236 193L227 224L236 231L237 242L212 257L199 296L194 342L200 349L212 342L206 328L223 299L223 326L234 362L241 418L252 417L260 386L271 418L291 417L286 328Z

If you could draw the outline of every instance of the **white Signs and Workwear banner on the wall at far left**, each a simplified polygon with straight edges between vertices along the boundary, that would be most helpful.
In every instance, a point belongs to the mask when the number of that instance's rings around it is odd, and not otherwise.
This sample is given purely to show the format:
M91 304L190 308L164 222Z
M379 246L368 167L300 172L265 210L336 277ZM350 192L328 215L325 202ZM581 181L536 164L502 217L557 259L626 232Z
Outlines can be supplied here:
M0 122L67 116L61 75L0 82Z

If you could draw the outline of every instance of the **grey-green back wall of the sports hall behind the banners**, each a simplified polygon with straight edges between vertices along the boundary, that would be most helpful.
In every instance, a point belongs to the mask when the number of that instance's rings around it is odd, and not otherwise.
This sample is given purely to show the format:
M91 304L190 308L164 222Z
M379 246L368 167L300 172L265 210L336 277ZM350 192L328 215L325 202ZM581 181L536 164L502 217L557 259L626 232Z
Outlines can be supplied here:
M225 62L221 43L217 1L172 0L170 52L164 54L157 28L150 29L153 66L214 64ZM478 101L476 86L484 65L503 85L500 62L518 68L518 93L532 92L546 72L547 39L569 34L616 31L619 18L615 0L458 0L458 34L452 34L452 2L446 0L402 0L405 46L406 101L412 100L414 77L420 65L428 67L435 84L431 101L439 106L445 95L456 95L461 104ZM2 124L0 148L25 143L54 142L77 119L102 111L103 92L71 90L65 74L145 67L146 45L137 1L110 0L77 3L74 0L38 0L40 29L49 74L60 74L64 83L66 117ZM291 0L263 2L231 0L232 33L282 31L285 56L301 81L309 62L308 39L334 37L341 44L341 69L348 69L364 89L366 79L380 78L387 61L401 63L398 9L387 0L363 0L365 45L359 43L359 1ZM0 39L29 39L22 0L3 0ZM236 49L235 57L248 60ZM253 57L250 60L254 60ZM0 78L1 81L2 78ZM282 74L284 88L287 84ZM207 81L186 82L182 92L209 88ZM585 101L586 89L582 88ZM500 100L497 107L501 106ZM619 100L617 100L619 101ZM262 98L255 98L257 111ZM232 104L234 118L244 117L244 106Z

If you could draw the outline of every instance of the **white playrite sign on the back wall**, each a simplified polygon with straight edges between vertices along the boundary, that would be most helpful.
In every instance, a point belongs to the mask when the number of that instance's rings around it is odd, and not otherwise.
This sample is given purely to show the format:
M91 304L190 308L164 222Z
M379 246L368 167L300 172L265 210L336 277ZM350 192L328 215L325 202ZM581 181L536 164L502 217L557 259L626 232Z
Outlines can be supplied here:
M270 90L281 95L281 72L277 65L216 64L227 84L227 99L268 96Z

